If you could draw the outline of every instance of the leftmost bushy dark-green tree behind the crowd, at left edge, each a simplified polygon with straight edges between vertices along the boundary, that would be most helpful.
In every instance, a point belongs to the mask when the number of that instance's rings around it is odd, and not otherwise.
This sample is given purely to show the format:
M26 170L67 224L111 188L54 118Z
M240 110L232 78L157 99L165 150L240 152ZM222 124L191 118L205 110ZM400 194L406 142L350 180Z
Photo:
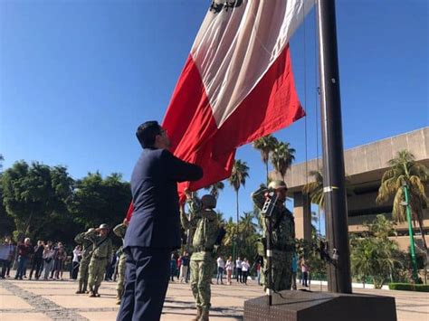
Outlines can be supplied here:
M63 166L16 162L2 175L3 203L17 234L33 237L67 212L72 179Z

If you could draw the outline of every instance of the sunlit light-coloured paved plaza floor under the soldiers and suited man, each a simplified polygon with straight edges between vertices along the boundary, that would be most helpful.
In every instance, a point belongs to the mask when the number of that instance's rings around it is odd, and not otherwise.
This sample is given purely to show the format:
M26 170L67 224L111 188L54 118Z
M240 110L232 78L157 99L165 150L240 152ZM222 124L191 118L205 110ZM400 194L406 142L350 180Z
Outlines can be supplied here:
M101 297L76 295L76 282L0 279L0 320L115 320L115 283L103 282ZM312 290L320 290L313 286ZM326 291L326 288L322 288ZM396 297L399 321L429 321L429 293L354 289L358 293ZM243 302L260 297L262 288L255 281L248 286L212 286L211 320L242 320ZM370 313L370 311L368 311ZM161 320L190 320L195 316L189 284L169 284Z

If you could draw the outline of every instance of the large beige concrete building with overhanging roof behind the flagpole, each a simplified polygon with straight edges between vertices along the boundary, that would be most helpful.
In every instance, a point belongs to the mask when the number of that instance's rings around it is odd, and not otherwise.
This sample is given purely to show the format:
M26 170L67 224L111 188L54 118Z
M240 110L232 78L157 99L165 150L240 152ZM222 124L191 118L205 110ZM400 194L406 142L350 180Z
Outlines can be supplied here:
M377 204L377 192L381 184L381 177L388 168L387 162L403 149L414 154L418 163L429 167L429 127L351 148L344 152L346 175L353 187L353 194L348 195L348 231L350 233L364 231L363 222L372 222L379 213L386 213L391 218L392 202ZM302 187L311 182L312 177L308 175L308 172L318 170L318 164L321 168L321 159L292 165L285 177L289 188L288 193L293 197L297 238L309 239L311 235L310 202L306 195L302 194ZM272 176L280 178L276 173L272 173ZM429 211L427 209L424 210L424 227L425 234L429 234ZM400 248L407 250L409 237L406 222L396 225L396 231L398 236L395 239ZM416 246L423 249L418 226L415 226L414 231Z

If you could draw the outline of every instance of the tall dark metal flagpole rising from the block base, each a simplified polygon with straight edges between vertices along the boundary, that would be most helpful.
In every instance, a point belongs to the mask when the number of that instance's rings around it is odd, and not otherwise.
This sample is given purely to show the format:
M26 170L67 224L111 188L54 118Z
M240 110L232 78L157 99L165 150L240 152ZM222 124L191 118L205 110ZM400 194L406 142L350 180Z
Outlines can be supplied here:
M335 0L319 0L320 108L323 146L323 192L328 241L328 289L351 293L348 208L337 50Z

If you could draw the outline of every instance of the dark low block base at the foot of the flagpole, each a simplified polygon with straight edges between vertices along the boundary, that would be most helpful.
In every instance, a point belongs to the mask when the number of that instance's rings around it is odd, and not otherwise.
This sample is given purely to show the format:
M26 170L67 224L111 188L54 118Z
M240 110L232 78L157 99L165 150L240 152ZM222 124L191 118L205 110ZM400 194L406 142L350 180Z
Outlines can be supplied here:
M244 302L244 320L396 321L395 297L310 291L281 291Z

